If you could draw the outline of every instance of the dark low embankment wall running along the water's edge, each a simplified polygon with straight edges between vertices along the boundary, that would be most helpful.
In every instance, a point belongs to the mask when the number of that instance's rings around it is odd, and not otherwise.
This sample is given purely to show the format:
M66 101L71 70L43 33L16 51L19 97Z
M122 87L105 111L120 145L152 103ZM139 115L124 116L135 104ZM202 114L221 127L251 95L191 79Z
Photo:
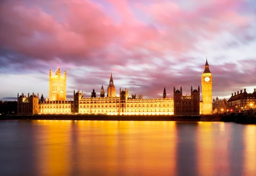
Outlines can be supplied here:
M34 116L0 116L0 120L119 120L119 121L195 121L195 122L236 122L256 124L253 116L201 115L201 116L173 116L173 115L34 115Z

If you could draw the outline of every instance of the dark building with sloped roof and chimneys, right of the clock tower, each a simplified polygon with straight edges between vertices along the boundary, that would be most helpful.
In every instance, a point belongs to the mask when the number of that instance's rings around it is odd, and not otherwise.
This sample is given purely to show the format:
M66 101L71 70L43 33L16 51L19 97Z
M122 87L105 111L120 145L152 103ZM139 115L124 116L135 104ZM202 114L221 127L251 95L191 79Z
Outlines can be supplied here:
M233 111L241 111L249 108L256 108L256 88L254 88L253 93L247 93L246 89L244 92L242 90L237 91L227 100L227 109Z

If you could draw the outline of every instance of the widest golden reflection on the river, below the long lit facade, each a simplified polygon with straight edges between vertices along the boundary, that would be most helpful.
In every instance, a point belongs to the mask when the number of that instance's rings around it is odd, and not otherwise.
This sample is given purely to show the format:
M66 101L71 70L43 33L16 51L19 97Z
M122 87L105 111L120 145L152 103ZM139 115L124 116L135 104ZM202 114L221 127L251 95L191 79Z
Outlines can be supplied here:
M176 175L176 122L41 120L35 123L42 132L36 136L41 166L38 175L79 174L74 170L108 176L150 175L157 170Z

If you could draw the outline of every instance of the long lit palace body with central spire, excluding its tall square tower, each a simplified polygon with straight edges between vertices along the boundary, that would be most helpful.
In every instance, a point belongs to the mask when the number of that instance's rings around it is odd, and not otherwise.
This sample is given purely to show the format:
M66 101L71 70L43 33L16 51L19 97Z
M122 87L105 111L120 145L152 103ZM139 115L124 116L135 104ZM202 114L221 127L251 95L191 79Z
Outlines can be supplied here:
M66 92L65 92L66 94ZM119 89L119 97L116 97L115 86L111 73L110 84L108 86L108 97L104 97L103 85L100 97L96 97L93 89L91 97L84 97L83 91L73 93L73 101L69 100L45 100L44 96L18 96L18 115L34 114L106 114L106 115L173 115L173 99L167 98L164 89L163 97L157 99L143 99L129 97L129 90Z

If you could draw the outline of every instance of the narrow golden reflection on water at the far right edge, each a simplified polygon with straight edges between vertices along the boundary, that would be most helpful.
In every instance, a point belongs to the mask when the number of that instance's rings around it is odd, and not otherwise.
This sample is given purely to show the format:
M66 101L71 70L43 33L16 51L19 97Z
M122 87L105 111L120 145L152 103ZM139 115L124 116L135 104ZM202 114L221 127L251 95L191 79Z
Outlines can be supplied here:
M244 170L246 176L256 175L256 126L247 125L244 129Z

